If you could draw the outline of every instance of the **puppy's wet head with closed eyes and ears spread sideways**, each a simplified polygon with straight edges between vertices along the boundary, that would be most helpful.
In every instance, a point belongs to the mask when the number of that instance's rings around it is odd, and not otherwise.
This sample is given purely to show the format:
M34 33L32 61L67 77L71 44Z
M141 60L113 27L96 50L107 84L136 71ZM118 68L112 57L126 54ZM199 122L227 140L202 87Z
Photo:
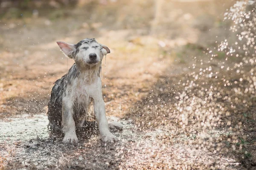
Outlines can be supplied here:
M77 44L57 42L61 51L70 58L73 58L80 67L94 66L102 61L103 56L110 53L107 46L99 44L94 38L86 38Z

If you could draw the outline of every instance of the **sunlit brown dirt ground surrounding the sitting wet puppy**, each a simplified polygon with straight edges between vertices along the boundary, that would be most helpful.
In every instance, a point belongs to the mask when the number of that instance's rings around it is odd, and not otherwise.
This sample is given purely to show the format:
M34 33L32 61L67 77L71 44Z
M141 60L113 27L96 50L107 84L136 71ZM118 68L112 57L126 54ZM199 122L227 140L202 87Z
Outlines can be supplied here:
M256 169L255 18L239 13L251 2L93 2L1 16L0 169ZM124 125L112 144L47 133L51 87L73 65L56 41L86 37L111 50L103 97Z

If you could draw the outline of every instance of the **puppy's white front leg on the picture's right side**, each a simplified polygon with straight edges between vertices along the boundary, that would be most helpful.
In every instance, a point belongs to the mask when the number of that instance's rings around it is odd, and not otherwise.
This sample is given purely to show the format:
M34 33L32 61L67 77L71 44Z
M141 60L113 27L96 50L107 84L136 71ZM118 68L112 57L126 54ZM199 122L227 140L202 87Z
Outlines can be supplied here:
M105 103L102 99L102 96L97 100L94 99L93 102L94 113L96 115L96 120L99 125L99 133L104 142L113 142L117 141L115 135L113 135L108 128L108 121L105 111Z

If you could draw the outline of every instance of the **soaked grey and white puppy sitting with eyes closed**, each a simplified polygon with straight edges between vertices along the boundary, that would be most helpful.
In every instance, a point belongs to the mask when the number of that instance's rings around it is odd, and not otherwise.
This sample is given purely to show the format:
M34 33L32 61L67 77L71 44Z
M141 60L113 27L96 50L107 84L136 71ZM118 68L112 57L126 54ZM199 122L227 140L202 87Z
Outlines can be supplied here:
M57 44L75 63L52 87L47 112L49 131L63 132L63 142L78 142L76 129L84 124L93 105L102 140L116 141L117 138L109 131L109 126L121 129L122 124L107 122L100 78L102 59L110 53L109 48L99 44L94 38L86 38L77 44Z

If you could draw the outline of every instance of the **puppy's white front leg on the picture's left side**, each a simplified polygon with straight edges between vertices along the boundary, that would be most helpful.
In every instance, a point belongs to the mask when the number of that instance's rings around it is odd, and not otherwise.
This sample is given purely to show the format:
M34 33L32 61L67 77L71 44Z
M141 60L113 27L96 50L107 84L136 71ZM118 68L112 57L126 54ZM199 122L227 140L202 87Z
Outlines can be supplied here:
M63 142L78 142L76 136L76 125L73 119L73 107L70 102L66 102L65 99L62 101L62 126L64 131Z

